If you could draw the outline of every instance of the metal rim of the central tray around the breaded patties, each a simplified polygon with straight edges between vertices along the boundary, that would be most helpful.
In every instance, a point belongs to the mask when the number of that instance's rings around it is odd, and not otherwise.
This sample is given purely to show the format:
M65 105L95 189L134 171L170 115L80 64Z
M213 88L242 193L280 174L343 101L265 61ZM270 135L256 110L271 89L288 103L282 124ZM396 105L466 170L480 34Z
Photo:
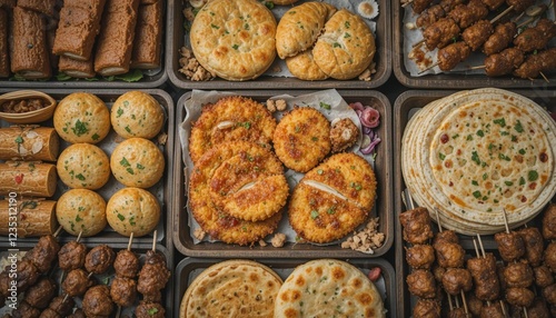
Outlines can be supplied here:
M294 95L302 95L302 93L308 93L314 90L307 91L307 90L300 90L300 91L295 91ZM276 90L260 90L260 91L239 91L236 90L238 95L242 96L248 96L248 97L265 97L265 96L277 96L280 95L281 91L276 91ZM383 121L383 125L385 125L385 131L388 136L388 138L391 138L393 136L393 127L391 127L391 107L386 98L381 92L379 91L360 91L360 90L338 90L340 96L353 96L353 97L374 97L379 99L381 102L384 102L385 106L385 112L386 117L390 118L390 120L385 120ZM178 129L179 123L182 120L183 117L183 102L187 98L189 98L191 92L186 92L182 95L178 102L176 103L176 107L178 108L177 116L176 116L176 131ZM176 138L179 139L178 132L176 132ZM237 252L240 252L244 257L257 257L257 258L274 258L274 257L285 257L285 258L316 258L316 257L332 257L332 258L338 258L338 257L344 257L344 258L378 258L386 254L391 246L394 245L394 219L393 219L393 213L389 212L393 210L394 202L393 202L393 196L391 196L391 189L394 187L393 183L393 165L391 160L389 160L393 153L393 143L391 142L385 142L385 162L383 170L385 170L384 177L385 177L385 186L384 186L384 191L386 192L385 199L386 201L384 203L384 209L385 209L385 216L386 216L386 221L385 223L388 225L387 231L385 232L386 239L379 249L375 250L374 255L366 255L363 252L354 251L350 249L339 249L339 250L326 250L326 249L285 249L285 248L278 248L278 249L269 249L266 248L264 250L256 250L254 248L247 248L247 247L237 247L237 246L224 246L221 249L216 250L217 252L211 250L206 250L206 249L192 249L187 246L187 244L183 244L180 240L179 236L179 213L182 213L182 207L180 207L180 197L182 196L182 187L183 185L181 181L183 180L183 163L181 160L181 143L179 140L175 142L175 151L173 151L173 173L177 176L177 180L180 182L177 187L175 187L175 196L173 196L173 212L172 212L172 223L173 223L173 230L172 230L172 241L173 246L176 249L189 257L210 257L210 258L218 258L218 257L235 257ZM384 218L380 219L380 223L383 223ZM326 248L326 247L325 247ZM238 250L239 249L239 250Z

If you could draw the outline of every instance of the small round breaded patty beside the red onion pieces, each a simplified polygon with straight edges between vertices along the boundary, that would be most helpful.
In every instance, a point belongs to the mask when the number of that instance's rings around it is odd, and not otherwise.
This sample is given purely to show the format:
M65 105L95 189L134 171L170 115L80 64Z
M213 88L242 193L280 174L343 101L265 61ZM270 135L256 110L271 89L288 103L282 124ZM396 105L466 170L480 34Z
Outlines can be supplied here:
M330 122L314 108L296 107L276 127L272 142L286 167L307 172L330 152Z

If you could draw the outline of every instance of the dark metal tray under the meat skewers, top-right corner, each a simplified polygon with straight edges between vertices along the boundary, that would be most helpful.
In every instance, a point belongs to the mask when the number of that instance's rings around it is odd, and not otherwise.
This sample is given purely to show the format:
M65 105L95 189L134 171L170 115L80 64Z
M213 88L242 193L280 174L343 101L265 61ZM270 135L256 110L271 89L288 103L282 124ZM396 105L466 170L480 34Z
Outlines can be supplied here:
M393 3L394 19L394 73L398 81L410 88L423 89L464 89L464 88L547 88L556 86L556 73L546 74L549 82L543 78L528 80L505 77L487 77L486 74L463 74L463 73L438 73L426 74L421 77L411 77L404 64L404 8L400 0L394 0Z

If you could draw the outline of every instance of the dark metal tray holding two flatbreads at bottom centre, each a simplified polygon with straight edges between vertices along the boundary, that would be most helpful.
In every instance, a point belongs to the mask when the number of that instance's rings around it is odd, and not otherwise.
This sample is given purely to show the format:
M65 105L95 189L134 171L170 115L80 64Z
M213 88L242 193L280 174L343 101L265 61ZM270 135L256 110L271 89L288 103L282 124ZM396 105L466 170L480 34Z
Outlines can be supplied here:
M205 269L208 267L220 262L225 259L207 259L207 258L185 258L181 260L178 266L176 267L176 286L175 286L175 294L173 294L173 312L175 312L175 318L180 318L179 317L179 307L181 304L181 299L183 298L183 294L186 292L186 289L191 285L192 280ZM342 259L345 260L345 259ZM265 259L265 260L256 260L259 261L271 269L276 270L278 275L286 280L287 276L294 271L294 269L299 266L305 264L306 259ZM353 266L359 268L360 270L365 271L375 267L379 267L381 269L381 276L385 280L385 290L380 290L381 292L386 292L386 299L384 300L385 308L388 310L386 314L386 317L401 317L401 316L396 316L396 310L397 310L397 304L396 304L396 297L395 297L395 290L396 290L396 282L395 282L395 274L394 274L394 268L389 262L387 262L384 259L380 258L375 258L370 260L364 260L364 259L349 259L345 260Z

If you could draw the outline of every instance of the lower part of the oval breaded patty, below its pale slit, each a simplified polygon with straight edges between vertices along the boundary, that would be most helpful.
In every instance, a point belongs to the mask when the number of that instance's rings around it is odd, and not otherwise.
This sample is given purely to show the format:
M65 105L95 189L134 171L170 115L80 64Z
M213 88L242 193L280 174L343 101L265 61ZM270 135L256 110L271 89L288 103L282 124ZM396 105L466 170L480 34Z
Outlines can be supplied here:
M291 195L288 213L289 223L301 238L325 244L351 232L365 221L368 210L300 182Z

